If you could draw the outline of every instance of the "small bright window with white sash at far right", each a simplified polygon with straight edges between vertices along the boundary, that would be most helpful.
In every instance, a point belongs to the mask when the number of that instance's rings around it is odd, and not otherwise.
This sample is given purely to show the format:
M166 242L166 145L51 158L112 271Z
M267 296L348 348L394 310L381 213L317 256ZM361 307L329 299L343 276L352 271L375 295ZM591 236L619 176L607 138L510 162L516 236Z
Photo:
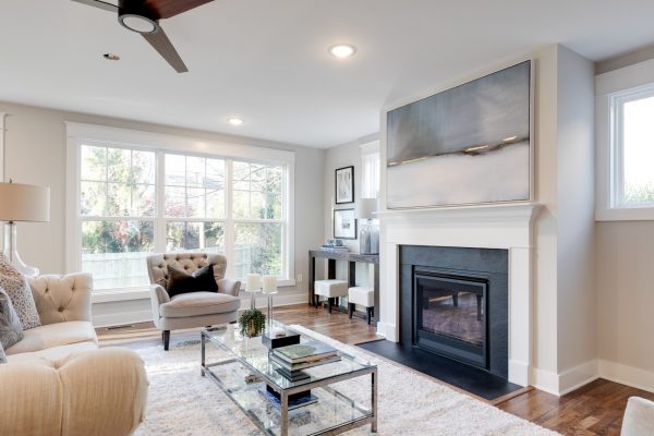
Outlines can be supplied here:
M654 207L654 85L611 95L610 113L610 207Z

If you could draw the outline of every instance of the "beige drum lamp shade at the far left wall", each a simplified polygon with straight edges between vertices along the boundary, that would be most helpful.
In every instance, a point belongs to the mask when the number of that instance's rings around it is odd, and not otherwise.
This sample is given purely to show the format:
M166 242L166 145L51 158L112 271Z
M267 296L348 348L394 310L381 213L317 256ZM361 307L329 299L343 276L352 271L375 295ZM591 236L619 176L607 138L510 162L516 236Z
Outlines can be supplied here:
M49 221L50 189L0 183L0 221Z

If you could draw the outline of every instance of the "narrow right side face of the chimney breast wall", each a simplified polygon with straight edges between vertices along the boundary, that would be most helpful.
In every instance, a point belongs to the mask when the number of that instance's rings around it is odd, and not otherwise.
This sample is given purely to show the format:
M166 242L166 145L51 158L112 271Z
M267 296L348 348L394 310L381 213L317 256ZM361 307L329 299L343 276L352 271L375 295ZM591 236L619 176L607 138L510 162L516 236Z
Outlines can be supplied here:
M594 65L559 46L557 370L559 389L596 377Z

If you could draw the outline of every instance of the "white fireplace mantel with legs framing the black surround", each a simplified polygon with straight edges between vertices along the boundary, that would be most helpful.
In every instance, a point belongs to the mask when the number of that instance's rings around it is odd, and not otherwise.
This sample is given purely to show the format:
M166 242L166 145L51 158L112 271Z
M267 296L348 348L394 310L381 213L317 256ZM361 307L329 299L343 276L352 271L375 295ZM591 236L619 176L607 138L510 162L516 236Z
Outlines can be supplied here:
M377 331L399 341L399 247L401 245L504 249L509 252L509 380L528 386L532 348L533 221L540 205L443 207L377 214L379 312Z

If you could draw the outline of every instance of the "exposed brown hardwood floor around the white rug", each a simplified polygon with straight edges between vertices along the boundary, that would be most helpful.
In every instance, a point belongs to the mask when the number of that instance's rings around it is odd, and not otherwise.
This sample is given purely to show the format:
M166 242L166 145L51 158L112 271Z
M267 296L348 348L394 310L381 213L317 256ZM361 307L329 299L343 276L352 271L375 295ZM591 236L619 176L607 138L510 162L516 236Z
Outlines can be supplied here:
M362 343L382 339L375 327L364 319L348 318L346 313L326 308L313 308L306 304L283 306L275 310L275 319L284 324L300 324L314 331L344 343ZM100 346L142 347L144 343L160 344L161 332L152 323L140 323L120 328L98 328ZM182 340L197 339L197 329L175 330L171 344ZM598 379L574 392L556 397L537 389L528 388L517 396L495 401L501 410L532 421L546 428L570 436L618 436L627 400L638 396L654 400L654 393L617 383Z

